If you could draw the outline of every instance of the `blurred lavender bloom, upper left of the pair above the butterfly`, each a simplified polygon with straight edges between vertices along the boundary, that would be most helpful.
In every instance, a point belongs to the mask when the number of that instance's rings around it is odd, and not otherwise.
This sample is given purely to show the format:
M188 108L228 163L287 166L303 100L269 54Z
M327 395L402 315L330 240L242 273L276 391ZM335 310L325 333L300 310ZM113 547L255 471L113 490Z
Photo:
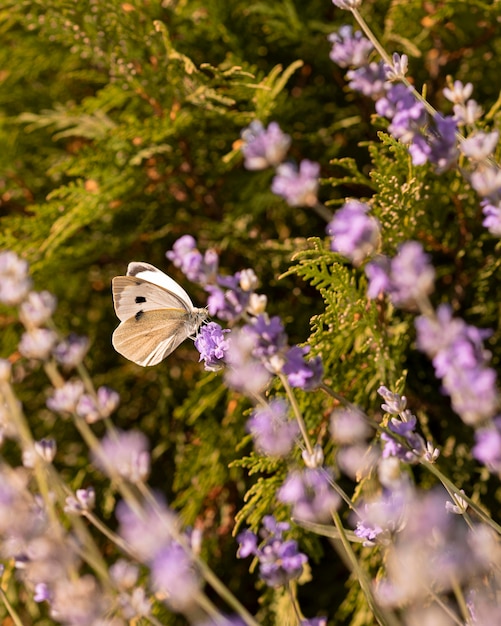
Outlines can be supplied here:
M254 120L242 131L242 154L248 170L264 170L277 167L287 154L291 138L283 133L276 122L271 122L267 129Z

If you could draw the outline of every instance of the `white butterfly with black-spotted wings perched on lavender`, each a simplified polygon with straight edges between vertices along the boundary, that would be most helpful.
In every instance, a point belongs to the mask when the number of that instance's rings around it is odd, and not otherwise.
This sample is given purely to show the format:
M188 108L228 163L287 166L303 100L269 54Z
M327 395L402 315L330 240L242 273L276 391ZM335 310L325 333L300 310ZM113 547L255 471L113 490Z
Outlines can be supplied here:
M208 317L175 280L149 263L129 263L127 276L116 276L112 286L120 320L113 347L143 367L160 363Z

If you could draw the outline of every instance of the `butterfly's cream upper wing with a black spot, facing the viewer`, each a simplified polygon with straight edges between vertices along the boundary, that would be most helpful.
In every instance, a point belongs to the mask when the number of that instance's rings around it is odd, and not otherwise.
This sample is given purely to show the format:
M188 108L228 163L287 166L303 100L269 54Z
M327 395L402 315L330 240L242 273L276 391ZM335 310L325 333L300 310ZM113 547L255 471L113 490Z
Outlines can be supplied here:
M191 311L191 301L183 301L177 294L138 276L117 276L112 281L115 312L122 322L139 311L181 309Z

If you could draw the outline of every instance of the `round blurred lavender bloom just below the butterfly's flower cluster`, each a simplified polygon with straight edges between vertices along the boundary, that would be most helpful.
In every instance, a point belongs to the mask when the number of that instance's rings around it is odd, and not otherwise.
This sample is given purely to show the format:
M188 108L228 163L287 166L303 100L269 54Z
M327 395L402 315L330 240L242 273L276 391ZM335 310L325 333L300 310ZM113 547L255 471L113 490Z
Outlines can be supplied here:
M263 454L283 457L292 450L299 427L296 421L288 419L288 413L287 403L280 398L252 412L247 430L252 434L256 448Z

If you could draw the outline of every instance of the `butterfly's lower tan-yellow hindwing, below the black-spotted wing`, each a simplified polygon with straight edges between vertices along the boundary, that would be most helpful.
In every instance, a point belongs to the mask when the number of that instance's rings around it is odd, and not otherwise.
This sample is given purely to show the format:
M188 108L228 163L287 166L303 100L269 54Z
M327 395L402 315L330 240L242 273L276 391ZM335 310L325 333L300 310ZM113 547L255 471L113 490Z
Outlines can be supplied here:
M188 337L190 320L191 313L180 308L140 311L121 322L113 333L113 347L138 365L156 365Z

